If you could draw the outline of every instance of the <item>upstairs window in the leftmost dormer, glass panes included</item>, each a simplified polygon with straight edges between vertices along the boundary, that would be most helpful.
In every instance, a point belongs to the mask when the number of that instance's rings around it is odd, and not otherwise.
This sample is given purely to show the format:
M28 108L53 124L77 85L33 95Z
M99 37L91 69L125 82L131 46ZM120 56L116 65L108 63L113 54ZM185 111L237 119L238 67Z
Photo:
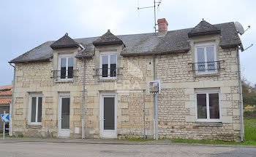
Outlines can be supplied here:
M60 55L59 57L59 73L60 79L72 79L74 57Z

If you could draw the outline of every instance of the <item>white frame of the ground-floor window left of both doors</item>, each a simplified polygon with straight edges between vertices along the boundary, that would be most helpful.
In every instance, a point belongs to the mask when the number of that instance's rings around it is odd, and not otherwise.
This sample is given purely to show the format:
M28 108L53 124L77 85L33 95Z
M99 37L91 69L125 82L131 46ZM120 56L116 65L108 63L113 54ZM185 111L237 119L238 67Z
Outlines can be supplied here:
M30 94L29 95L29 125L31 126L41 126L41 122L31 122L31 106L32 106L32 97L37 97L37 101L36 101L36 119L35 121L37 121L38 118L38 97L42 97L42 94ZM42 110L42 108L41 108Z

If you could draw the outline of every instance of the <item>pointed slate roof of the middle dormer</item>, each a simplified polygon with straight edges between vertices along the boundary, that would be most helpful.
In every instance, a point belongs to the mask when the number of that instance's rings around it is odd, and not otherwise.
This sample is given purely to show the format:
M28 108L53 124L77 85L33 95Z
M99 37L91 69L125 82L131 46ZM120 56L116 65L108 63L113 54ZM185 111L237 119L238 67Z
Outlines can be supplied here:
M110 30L108 30L107 33L100 36L92 44L94 44L94 46L97 46L97 45L124 44L124 43L123 43L123 41L121 41L121 39L118 39L118 37L113 35L113 33L111 33Z

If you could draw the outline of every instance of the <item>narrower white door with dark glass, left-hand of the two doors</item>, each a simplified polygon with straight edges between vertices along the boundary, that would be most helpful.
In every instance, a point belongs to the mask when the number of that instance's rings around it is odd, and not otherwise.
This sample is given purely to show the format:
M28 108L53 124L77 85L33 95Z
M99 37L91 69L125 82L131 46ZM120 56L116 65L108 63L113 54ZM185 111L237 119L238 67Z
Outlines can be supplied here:
M59 97L59 137L69 137L70 97L60 94Z

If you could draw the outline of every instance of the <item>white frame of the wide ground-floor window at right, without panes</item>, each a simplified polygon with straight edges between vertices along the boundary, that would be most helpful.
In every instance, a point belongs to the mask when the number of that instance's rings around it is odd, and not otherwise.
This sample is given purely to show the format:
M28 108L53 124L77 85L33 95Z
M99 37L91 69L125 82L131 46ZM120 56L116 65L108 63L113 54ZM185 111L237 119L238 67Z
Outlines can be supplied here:
M219 94L219 118L210 118L210 107L209 107L209 94ZM207 118L197 118L197 94L206 94L206 112ZM222 122L222 110L221 110L221 100L220 100L220 90L219 89L195 89L195 121L196 122Z

